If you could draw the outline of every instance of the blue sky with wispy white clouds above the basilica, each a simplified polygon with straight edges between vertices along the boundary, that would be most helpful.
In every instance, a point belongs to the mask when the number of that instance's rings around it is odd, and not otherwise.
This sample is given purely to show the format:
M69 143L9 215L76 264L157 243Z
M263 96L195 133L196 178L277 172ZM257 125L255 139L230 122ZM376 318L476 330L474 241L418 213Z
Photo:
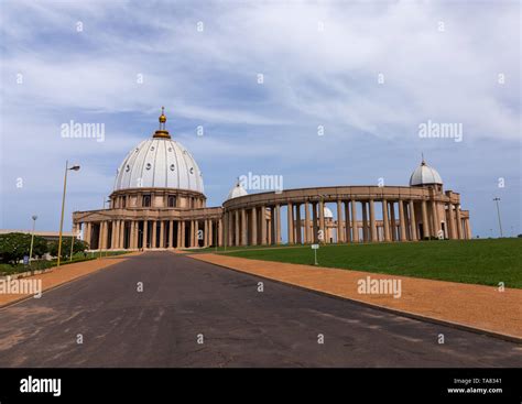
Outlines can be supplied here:
M0 228L29 229L37 215L40 230L58 229L67 160L80 170L68 176L65 229L73 211L101 208L165 106L207 206L248 173L281 175L285 189L407 185L424 154L460 193L474 236L498 237L494 197L504 236L522 233L520 9L4 0ZM62 137L70 121L102 123L104 141ZM428 122L458 137L422 137Z

